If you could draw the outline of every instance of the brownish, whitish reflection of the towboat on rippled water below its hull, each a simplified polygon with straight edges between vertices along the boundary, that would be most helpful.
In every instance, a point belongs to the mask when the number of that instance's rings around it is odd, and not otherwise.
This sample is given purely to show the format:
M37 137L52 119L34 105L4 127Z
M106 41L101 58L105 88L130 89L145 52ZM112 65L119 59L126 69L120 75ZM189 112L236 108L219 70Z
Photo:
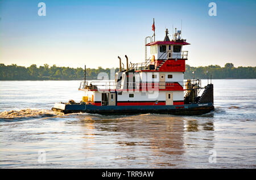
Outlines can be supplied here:
M141 114L133 116L105 117L102 115L79 115L77 117L84 136L84 156L86 165L100 167L129 166L150 168L177 166L184 161L183 154L188 153L193 141L192 132L200 132L201 139L212 140L213 122L199 123L190 118L159 114ZM197 136L197 134L195 134ZM208 143L209 146L209 143ZM214 144L210 144L212 148Z

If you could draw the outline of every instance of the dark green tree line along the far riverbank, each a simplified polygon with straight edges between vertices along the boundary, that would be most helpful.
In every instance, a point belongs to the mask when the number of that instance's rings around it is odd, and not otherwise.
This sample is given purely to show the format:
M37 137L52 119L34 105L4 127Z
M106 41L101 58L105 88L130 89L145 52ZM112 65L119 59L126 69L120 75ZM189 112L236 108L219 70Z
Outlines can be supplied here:
M110 77L110 68L86 68L86 79L97 79L100 72L106 72ZM112 68L115 72L119 68ZM186 65L184 79L207 79L207 74L212 74L213 79L256 79L256 67L234 67L232 63L226 63L225 67L210 65L205 67L191 67ZM0 80L82 80L84 69L81 67L57 67L45 64L30 67L0 64Z

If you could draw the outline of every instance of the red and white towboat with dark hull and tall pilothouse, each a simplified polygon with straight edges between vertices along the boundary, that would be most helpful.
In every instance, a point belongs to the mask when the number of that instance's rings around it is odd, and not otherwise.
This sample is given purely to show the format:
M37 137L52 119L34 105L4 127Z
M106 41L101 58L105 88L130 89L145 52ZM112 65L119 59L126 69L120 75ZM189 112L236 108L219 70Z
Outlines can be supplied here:
M204 87L200 79L184 81L188 51L183 51L183 46L190 44L180 35L181 31L175 28L170 40L166 29L164 40L155 41L154 31L154 41L153 36L145 38L145 61L129 63L125 55L125 68L118 56L119 72L113 72L114 80L86 81L85 68L84 81L79 87L79 91L85 92L82 101L55 103L52 110L104 115L209 113L214 110L212 80ZM150 48L149 58L147 48Z

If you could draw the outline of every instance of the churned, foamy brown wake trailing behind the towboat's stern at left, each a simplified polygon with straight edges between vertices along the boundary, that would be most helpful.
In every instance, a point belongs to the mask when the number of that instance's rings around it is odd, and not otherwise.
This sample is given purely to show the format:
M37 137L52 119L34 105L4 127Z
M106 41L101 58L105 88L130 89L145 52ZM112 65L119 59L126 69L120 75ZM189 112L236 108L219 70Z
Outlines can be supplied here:
M22 109L10 110L0 113L0 118L13 119L13 118L32 118L32 117L53 117L56 113L51 110L44 109Z

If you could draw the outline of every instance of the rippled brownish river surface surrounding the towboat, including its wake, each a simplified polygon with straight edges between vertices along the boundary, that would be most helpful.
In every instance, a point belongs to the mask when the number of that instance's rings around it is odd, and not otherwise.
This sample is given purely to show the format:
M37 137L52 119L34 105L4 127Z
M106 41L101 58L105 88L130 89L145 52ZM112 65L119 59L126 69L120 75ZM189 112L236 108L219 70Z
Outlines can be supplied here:
M256 168L256 79L212 82L208 114L104 116L51 111L79 81L1 81L0 168Z

